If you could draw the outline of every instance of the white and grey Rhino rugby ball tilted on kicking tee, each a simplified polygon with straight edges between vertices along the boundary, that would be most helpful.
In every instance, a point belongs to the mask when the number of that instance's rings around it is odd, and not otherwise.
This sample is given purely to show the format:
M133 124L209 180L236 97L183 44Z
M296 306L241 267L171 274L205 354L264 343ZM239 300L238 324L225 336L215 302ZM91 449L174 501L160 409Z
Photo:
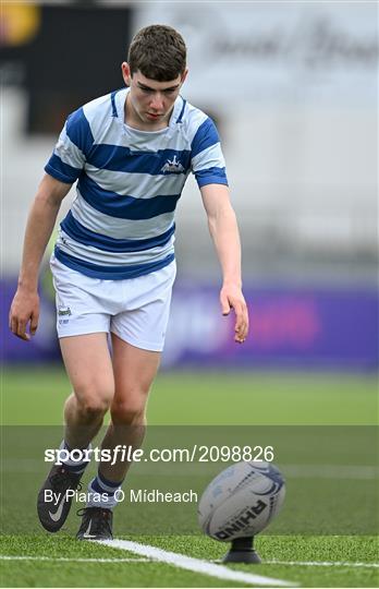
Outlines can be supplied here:
M200 528L221 542L255 536L279 513L284 495L284 479L271 462L237 462L204 491L197 512Z

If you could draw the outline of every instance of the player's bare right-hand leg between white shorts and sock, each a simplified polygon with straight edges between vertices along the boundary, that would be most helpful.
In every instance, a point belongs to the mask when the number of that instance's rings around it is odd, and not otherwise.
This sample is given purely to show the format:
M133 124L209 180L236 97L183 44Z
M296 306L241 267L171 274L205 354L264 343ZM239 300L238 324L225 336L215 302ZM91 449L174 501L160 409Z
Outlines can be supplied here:
M142 350L112 334L114 397L112 422L102 441L102 448L117 445L137 448L145 435L146 405L151 383L157 374L160 352ZM99 471L109 481L124 479L130 464L101 462Z

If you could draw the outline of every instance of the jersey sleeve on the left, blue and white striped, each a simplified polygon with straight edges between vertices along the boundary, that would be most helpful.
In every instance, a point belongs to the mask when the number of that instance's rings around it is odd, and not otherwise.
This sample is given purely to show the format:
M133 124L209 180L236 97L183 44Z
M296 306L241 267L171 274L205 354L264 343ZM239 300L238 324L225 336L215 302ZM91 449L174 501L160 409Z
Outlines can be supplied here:
M81 108L68 118L45 171L72 184L78 179L93 144L94 137Z

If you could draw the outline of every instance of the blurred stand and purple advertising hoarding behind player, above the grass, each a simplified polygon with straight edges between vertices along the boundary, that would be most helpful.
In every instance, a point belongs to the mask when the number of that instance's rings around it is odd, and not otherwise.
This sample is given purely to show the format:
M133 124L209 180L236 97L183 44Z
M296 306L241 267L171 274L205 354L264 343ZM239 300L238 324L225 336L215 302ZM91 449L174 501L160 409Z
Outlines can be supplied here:
M122 86L147 24L188 46L183 95L217 122L243 241L252 332L233 342L190 178L176 219L167 370L378 369L378 7L368 2L2 2L1 361L59 362L48 256L39 330L8 332L26 216L68 115ZM64 203L60 218L70 206ZM359 381L357 390L367 386Z

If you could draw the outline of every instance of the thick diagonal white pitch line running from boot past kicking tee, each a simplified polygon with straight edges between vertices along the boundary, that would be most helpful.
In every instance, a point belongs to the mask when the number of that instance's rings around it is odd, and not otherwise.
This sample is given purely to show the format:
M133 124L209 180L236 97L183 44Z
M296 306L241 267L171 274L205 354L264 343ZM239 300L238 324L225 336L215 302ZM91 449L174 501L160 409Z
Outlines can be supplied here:
M207 561L200 561L199 558L193 558L192 556L185 556L184 554L179 554L176 552L168 552L156 546L139 544L138 542L131 542L129 540L105 540L99 543L110 548L134 552L140 556L147 556L152 561L178 566L179 568L192 570L193 573L198 573L199 575L208 575L209 577L216 577L218 579L244 582L248 585L258 585L259 587L297 587L296 584L282 579L273 579L271 577L262 577L261 575L252 575L250 573L233 570L227 566L217 565Z

